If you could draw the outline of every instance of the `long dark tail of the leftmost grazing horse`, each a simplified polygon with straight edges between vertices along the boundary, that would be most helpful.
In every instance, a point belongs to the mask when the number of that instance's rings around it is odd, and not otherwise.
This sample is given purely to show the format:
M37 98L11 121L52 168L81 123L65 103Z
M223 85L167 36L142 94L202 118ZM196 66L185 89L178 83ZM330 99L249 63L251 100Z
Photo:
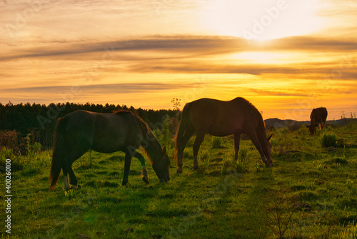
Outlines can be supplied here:
M67 118L59 118L57 121L56 131L54 133L54 148L52 153L51 172L49 173L49 182L51 186L49 190L54 190L59 180L59 175L62 169L61 160L64 158L67 151L66 141L64 139L64 131L67 125Z

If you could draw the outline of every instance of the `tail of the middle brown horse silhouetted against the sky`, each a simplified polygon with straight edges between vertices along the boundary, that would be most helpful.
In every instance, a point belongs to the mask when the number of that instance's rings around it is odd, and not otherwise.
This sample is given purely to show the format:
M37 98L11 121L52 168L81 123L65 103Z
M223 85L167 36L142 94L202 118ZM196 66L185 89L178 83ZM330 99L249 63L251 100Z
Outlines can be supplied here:
M179 160L182 161L181 157L178 157L178 153L182 153L181 150L185 146L183 146L183 141L182 138L185 135L185 132L189 126L192 127L192 123L190 121L190 116L189 116L189 109L191 108L191 103L186 103L185 107L183 107L182 110L182 115L181 115L181 121L180 121L180 126L178 126L178 130L176 132L176 143L175 143L175 159L176 163L181 163L178 162Z

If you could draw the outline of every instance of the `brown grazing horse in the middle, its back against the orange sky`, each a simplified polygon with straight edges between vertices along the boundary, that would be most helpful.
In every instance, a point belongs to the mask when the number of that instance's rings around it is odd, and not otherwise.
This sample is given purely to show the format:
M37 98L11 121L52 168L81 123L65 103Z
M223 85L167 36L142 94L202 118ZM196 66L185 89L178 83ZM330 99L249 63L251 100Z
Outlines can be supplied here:
M198 169L197 154L206 133L211 136L234 135L235 160L238 158L241 133L245 133L261 154L267 168L271 167L271 136L266 138L266 128L261 113L244 98L218 101L201 98L186 103L176 133L177 172L182 172L183 150L188 140L196 133L193 143L193 169Z

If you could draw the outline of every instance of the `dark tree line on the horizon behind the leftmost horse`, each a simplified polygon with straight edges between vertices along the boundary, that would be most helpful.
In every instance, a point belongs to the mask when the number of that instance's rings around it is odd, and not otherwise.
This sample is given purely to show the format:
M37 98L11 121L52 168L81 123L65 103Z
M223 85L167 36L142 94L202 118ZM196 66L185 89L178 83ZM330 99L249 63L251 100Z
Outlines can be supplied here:
M147 110L106 103L51 103L48 106L39 103L6 104L0 103L0 148L17 148L23 151L26 146L41 143L44 148L51 148L54 143L54 130L57 118L73 111L85 110L98 113L113 113L129 110L139 115L151 129L162 126L166 116L176 116L178 110Z

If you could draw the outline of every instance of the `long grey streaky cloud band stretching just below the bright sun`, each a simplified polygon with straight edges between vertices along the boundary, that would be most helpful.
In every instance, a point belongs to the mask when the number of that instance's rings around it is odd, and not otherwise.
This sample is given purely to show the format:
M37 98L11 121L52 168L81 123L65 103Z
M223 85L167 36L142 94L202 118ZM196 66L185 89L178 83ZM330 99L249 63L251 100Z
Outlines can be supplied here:
M357 49L357 42L353 40L340 41L308 36L276 39L266 44L259 44L236 37L221 36L152 36L139 40L103 41L99 43L83 42L81 44L54 42L53 44L56 44L56 47L47 45L32 49L22 49L21 54L19 54L19 51L13 51L7 56L1 56L0 60L74 56L105 51L156 51L189 54L190 56L211 56L244 51L336 52ZM175 58L175 55L172 58Z

